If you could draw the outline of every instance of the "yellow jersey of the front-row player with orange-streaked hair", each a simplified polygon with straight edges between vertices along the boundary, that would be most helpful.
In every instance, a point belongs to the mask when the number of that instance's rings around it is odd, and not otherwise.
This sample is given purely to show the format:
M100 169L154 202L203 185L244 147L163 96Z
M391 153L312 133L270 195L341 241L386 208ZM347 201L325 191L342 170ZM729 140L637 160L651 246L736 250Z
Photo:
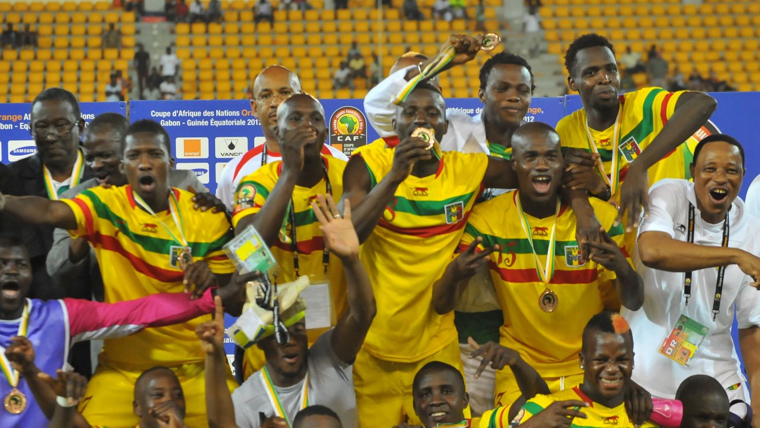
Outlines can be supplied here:
M570 423L571 428L633 428L633 422L629 419L628 413L625 411L625 403L621 403L614 408L604 407L599 403L591 401L583 392L581 392L580 385L573 388L567 388L554 394L536 395L534 398L525 403L520 409L520 412L515 416L515 420L512 421L512 425L518 425L525 423L530 417L533 417L540 411L543 411L549 404L554 401L565 400L579 400L586 401L589 407L581 407L578 409L582 414L587 416L586 419L574 418ZM657 424L652 423L651 420L644 422L641 428L656 428Z

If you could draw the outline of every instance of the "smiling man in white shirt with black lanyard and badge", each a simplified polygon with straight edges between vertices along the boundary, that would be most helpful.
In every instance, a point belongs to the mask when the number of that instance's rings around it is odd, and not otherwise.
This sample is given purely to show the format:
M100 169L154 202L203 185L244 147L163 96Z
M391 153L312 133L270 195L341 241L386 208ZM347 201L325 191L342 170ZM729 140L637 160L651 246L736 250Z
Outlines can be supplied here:
M749 402L750 391L760 397L760 239L757 220L738 197L741 144L728 135L705 138L691 172L694 182L652 186L649 217L639 227L644 306L622 311L637 344L633 380L673 398L684 379L701 373L717 379L731 400ZM731 338L734 315L749 387Z

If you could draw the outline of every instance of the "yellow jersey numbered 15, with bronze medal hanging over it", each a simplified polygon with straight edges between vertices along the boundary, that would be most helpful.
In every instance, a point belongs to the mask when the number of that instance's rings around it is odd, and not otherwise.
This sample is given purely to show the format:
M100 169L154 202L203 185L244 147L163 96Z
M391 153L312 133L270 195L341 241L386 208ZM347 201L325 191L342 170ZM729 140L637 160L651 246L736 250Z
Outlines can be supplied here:
M543 312L539 296L546 285L537 274L533 249L521 225L517 198L518 192L513 190L477 204L470 213L460 249L467 249L478 236L483 238L481 249L497 244L501 247L488 258L504 315L504 324L499 328L501 344L518 351L544 378L581 373L578 351L584 326L604 308L619 309L617 294L610 283L616 274L596 262L581 263L581 250L575 240L577 219L571 208L562 205L556 220L554 275L549 281L549 290L556 293L559 305L554 312ZM615 208L596 198L590 202L600 224L631 263L622 246L622 227L613 227ZM545 265L554 216L543 219L527 213L525 216L538 258Z

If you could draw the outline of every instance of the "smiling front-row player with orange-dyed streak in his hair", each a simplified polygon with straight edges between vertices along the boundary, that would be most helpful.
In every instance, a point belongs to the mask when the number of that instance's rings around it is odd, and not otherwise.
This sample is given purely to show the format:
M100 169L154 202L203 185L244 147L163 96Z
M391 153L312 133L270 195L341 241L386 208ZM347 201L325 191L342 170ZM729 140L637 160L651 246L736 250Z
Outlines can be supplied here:
M512 425L525 428L657 426L651 421L634 423L626 410L626 392L632 383L633 336L620 314L603 311L588 321L583 329L578 363L583 370L580 385L554 394L536 395L525 403ZM648 401L646 417L652 408L651 398Z

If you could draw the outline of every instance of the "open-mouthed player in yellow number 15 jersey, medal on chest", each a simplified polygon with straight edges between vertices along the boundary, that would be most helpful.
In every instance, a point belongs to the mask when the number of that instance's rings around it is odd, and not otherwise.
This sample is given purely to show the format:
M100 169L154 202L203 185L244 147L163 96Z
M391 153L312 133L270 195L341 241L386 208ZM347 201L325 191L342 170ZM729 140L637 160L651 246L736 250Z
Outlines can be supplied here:
M578 216L560 200L562 151L549 125L531 122L512 135L512 167L518 190L473 208L462 236L461 255L433 287L439 314L454 309L478 260L487 260L504 315L500 343L517 350L553 391L580 381L575 355L584 321L605 307L644 301L644 284L622 247L615 208L591 200L603 228L602 243L590 243L591 260L580 256ZM476 247L486 251L476 254ZM549 255L551 255L549 257ZM515 376L496 373L496 405L520 395Z

